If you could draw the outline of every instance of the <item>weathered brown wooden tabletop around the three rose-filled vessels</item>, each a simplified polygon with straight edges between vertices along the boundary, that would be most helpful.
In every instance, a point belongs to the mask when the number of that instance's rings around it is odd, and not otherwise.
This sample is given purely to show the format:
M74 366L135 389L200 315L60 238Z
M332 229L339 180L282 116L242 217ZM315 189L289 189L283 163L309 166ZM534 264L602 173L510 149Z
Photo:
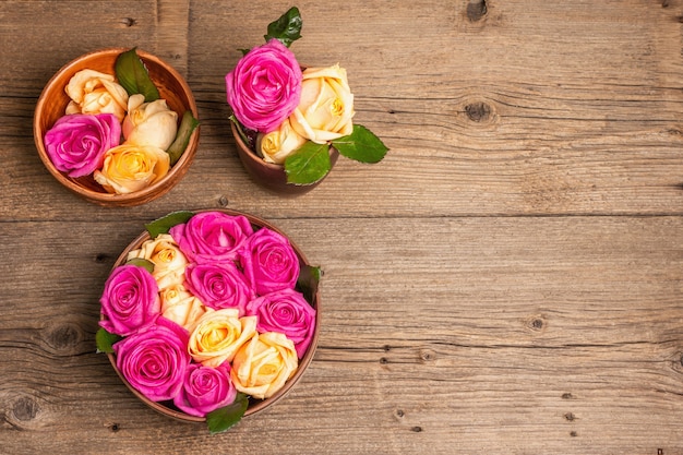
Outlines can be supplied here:
M683 0L302 0L391 152L293 199L253 183L224 76L291 5L0 2L0 453L683 454ZM199 105L185 178L106 208L38 158L65 62L137 46ZM227 433L139 402L95 352L116 256L166 213L227 207L324 271L302 381Z

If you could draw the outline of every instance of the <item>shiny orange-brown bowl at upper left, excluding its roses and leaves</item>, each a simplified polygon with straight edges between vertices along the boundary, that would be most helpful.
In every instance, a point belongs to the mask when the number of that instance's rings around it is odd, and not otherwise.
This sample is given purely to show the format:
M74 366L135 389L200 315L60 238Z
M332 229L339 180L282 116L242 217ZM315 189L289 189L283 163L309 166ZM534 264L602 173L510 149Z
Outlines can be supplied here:
M38 148L38 155L50 173L64 187L85 200L107 206L131 206L153 201L171 190L187 173L200 142L199 128L192 133L188 148L182 156L158 182L130 194L111 194L101 188L92 176L72 178L59 171L50 160L45 149L45 133L55 122L64 115L70 101L64 87L71 77L79 71L91 69L103 73L115 74L113 65L117 57L129 49L110 48L96 50L83 55L62 67L47 83L33 119L33 136ZM178 113L178 119L185 110L191 110L194 118L199 118L196 104L190 86L184 79L171 65L161 59L136 49L137 56L147 68L152 82L157 86L161 98L166 99L168 107Z

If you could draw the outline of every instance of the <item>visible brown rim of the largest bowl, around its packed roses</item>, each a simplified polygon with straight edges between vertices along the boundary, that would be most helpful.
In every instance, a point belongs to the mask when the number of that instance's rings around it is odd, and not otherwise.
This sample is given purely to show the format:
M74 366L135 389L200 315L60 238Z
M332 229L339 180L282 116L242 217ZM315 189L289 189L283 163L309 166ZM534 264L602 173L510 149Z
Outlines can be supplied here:
M289 237L287 237L287 235L285 232L283 232L280 229L278 229L277 227L275 227L274 225L272 225L271 223L261 219L256 216L253 215L249 215L249 214L244 214L244 213L240 213L240 212L236 212L236 211L230 211L230 209L211 209L211 211L195 211L194 213L201 213L201 212L223 212L226 213L230 216L244 216L247 219L249 219L249 221L251 223L251 225L253 226L254 230L260 229L262 227L267 227L268 229L286 237L289 240L289 243L291 244L291 247L293 248L295 252L297 253L297 255L299 256L299 263L300 265L310 265L308 260L305 259L305 255L303 254L303 252L299 249L299 247L297 247L297 244L295 244L291 239L289 239ZM137 236L137 238L135 240L133 240L124 250L123 252L119 255L119 258L117 259L116 263L113 264L112 271L113 268L118 267L119 265L122 265L127 262L128 260L128 253L130 253L133 250L139 249L142 243L145 240L149 239L149 234L147 231L142 232L140 236ZM244 417L247 416L252 416L256 412L263 411L264 409L268 408L269 406L273 406L275 403L279 402L283 397L285 397L285 395L287 395L287 393L289 393L289 391L291 391L291 388L295 386L295 384L297 384L299 382L299 380L301 379L301 376L303 375L303 372L305 371L305 369L309 367L309 364L311 363L311 360L313 360L313 356L315 354L315 349L317 347L317 337L319 337L319 333L320 333L320 323L321 323L321 311L320 311L320 291L317 288L314 289L314 292L312 295L311 298L312 301L309 301L309 303L315 309L315 327L313 331L313 336L311 338L311 344L309 345L309 348L307 349L305 354L303 355L303 357L299 360L299 368L297 369L297 371L295 372L293 376L291 376L289 379L289 381L287 381L287 383L283 386L283 388L280 388L279 391L277 391L273 396L271 396L269 398L266 399L254 399L254 398L250 398L249 399L249 407L247 408L247 411L244 412ZM100 314L100 319L104 319L104 315ZM205 422L206 418L205 417L196 417L196 416L190 416L179 409L176 409L175 407L171 407L172 405L166 406L165 404L161 403L156 403L151 400L149 398L147 398L146 396L144 396L142 393L137 392L137 390L135 390L129 382L128 380L123 376L123 374L121 373L121 371L117 368L117 362L116 362L116 355L115 354L107 354L108 358L109 358L109 362L111 363L111 367L113 368L113 370L117 372L117 374L119 375L119 378L121 379L121 381L123 381L123 384L125 384L125 386L137 397L140 398L140 400L142 400L145 405L147 405L148 407L151 407L152 409L167 416L170 418L173 418L176 420L181 420L184 422Z

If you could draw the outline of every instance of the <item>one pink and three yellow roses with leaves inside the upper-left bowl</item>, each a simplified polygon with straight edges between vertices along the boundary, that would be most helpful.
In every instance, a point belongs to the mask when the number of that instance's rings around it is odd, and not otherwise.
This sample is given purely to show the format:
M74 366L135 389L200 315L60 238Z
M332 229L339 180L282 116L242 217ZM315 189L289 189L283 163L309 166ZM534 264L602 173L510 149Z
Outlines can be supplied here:
M92 176L108 193L163 179L199 125L190 110L179 116L160 98L135 48L118 56L113 74L83 69L64 92L70 101L45 132L45 152L60 172Z

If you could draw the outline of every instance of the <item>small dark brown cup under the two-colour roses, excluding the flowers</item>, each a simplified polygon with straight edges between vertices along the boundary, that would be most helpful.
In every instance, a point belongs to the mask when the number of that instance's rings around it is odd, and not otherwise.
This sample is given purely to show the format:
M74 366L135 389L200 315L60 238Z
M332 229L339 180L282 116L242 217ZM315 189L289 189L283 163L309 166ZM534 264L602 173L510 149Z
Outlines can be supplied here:
M235 122L230 121L230 128L232 129L232 136L235 137L235 143L237 145L237 153L242 161L242 165L244 166L244 169L247 170L247 173L249 173L253 181L263 188L277 194L293 196L308 193L327 177L325 176L312 184L287 183L287 173L285 172L284 166L264 161L251 148L249 148L247 144L244 144L242 136L239 131L237 131ZM337 163L338 157L339 152L337 152L334 147L329 147L329 164L332 167L334 167Z

